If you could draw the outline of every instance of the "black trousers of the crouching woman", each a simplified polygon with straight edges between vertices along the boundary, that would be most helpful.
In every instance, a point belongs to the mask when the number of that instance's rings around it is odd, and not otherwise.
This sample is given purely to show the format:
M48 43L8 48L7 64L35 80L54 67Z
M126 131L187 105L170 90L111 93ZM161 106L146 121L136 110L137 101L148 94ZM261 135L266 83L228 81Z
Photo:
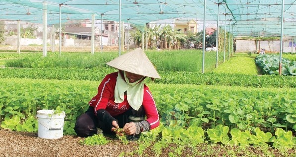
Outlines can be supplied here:
M129 122L129 116L145 117L145 115L145 110L143 109L143 106L141 106L137 111L130 108L114 118L118 121L119 127L123 128L123 126ZM102 129L105 134L115 134L113 131L107 129L107 124L104 121L100 121L97 118L94 113L94 107L90 106L84 114L77 118L74 130L78 136L88 137L97 134L97 128Z

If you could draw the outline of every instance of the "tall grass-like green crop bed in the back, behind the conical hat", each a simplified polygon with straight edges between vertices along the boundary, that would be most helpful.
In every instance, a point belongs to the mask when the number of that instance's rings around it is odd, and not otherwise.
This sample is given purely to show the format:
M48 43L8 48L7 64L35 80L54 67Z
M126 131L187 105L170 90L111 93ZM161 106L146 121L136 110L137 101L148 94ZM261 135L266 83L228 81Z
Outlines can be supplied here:
M125 53L125 52L124 52ZM123 54L124 54L123 53ZM145 51L148 58L158 71L202 71L201 50L178 50L178 51ZM118 52L104 53L48 53L42 57L42 53L21 54L19 58L8 60L5 67L18 68L102 68L106 63L116 58ZM221 61L219 55L219 61ZM215 67L216 52L207 52L205 55L205 71L211 71Z

